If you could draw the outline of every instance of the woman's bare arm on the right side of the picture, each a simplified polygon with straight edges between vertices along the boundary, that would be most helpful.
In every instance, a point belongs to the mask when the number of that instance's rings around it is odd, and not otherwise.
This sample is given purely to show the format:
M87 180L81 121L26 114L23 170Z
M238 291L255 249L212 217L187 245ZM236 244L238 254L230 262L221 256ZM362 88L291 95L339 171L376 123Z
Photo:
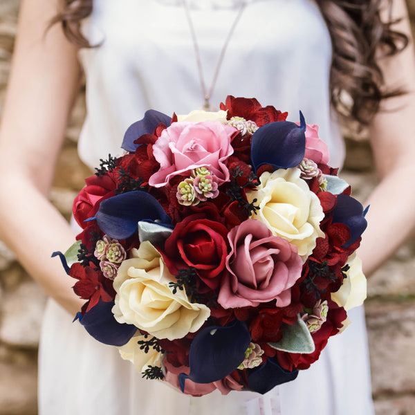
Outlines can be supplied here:
M358 255L367 275L409 237L415 228L415 58L404 0L394 0L396 29L405 33L409 46L402 53L380 59L385 86L407 93L382 104L369 132L380 182L367 203L368 227Z

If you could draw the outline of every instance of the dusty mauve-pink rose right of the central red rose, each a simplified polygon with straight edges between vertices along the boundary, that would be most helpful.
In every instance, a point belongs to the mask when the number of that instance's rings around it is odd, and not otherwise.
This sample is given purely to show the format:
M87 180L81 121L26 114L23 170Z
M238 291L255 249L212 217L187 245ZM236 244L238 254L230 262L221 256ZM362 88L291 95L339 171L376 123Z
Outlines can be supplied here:
M228 233L229 273L223 277L218 302L223 308L258 306L276 299L277 307L291 302L291 287L301 277L297 248L274 236L256 219L243 221Z

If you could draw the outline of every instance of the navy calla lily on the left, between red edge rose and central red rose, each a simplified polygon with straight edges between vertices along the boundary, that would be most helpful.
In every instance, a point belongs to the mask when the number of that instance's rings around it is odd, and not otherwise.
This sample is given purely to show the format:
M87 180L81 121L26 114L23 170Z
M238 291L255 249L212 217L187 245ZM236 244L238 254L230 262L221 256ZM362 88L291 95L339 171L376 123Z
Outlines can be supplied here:
M163 206L147 192L118 194L101 202L95 220L102 232L113 239L126 239L136 232L138 221L171 223Z

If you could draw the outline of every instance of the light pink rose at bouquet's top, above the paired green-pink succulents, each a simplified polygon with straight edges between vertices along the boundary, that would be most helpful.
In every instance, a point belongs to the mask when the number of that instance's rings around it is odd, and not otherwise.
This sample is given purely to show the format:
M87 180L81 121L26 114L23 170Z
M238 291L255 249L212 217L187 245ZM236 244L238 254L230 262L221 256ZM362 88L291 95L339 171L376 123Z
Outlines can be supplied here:
M153 145L160 169L149 178L149 185L162 187L192 169L207 167L219 185L229 181L225 160L233 153L230 140L237 130L220 122L174 122L163 130Z

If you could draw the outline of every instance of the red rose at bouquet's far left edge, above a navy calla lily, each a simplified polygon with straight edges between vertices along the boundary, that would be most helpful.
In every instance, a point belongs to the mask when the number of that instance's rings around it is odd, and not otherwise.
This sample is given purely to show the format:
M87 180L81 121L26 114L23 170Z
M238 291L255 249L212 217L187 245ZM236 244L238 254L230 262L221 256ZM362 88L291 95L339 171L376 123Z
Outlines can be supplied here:
M92 217L97 211L100 202L111 196L114 196L117 183L113 174L104 174L103 176L91 176L85 179L84 187L73 201L73 216L78 225L85 229L88 223L85 219Z

